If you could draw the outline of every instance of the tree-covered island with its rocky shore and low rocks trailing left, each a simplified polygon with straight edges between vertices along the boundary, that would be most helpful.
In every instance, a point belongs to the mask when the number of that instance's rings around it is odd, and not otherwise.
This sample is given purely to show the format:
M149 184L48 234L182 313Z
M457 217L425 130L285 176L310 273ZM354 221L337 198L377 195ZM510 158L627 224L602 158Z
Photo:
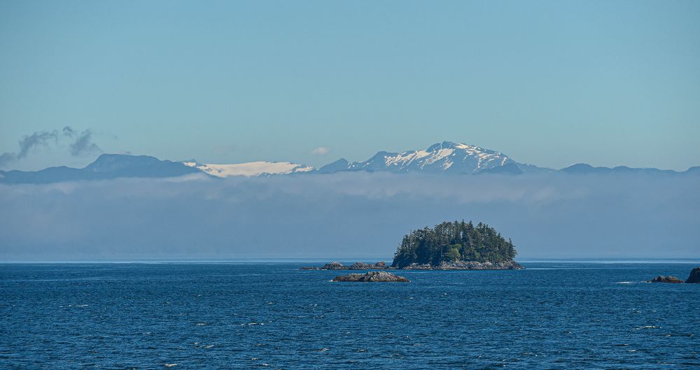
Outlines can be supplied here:
M482 222L442 222L405 235L391 266L384 262L356 262L346 266L330 262L304 270L512 270L524 269L514 261L512 240L505 240L496 229Z

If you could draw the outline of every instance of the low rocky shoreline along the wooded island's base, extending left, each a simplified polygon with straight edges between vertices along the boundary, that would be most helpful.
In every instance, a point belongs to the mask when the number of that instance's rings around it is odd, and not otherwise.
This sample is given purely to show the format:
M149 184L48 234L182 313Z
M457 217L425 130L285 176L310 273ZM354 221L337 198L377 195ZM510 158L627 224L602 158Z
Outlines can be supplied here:
M365 262L355 262L346 266L340 262L329 262L321 267L302 267L302 270L519 270L525 269L521 264L515 261L505 262L476 262L476 261L458 261L458 262L440 262L439 265L433 266L430 264L409 264L402 268L386 266L386 262L377 262L376 264L367 264Z

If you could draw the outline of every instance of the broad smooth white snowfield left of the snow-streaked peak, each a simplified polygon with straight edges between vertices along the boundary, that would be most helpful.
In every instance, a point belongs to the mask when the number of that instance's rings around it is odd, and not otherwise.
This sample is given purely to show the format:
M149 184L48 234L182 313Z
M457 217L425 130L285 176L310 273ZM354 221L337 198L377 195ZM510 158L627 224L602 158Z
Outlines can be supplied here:
M186 166L209 173L211 176L266 176L288 175L290 173L314 171L314 167L290 162L248 162L238 164L204 164L197 161L185 161Z

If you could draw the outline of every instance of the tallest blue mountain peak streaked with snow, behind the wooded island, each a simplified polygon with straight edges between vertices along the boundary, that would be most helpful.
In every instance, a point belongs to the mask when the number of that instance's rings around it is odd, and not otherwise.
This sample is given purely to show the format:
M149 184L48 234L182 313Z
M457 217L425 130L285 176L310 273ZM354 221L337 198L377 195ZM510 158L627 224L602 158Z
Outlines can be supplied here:
M522 173L535 171L539 167L519 164L507 155L475 145L443 141L430 145L426 150L406 152L378 152L362 162L349 163L345 159L318 169L321 173L338 171L390 171L425 173Z

